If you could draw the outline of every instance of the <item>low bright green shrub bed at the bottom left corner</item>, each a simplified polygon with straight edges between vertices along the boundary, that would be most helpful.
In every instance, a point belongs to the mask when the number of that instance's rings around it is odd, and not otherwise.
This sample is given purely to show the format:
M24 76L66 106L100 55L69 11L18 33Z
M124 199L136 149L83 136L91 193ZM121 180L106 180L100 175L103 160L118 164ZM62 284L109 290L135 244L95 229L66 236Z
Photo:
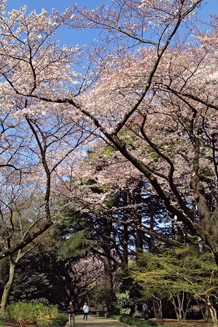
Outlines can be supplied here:
M51 313L54 317L58 315L57 306L43 305L39 300L32 301L29 303L25 302L14 302L10 303L5 309L5 317L7 319L17 320L23 318L24 320L32 321L37 323L37 317L45 316Z

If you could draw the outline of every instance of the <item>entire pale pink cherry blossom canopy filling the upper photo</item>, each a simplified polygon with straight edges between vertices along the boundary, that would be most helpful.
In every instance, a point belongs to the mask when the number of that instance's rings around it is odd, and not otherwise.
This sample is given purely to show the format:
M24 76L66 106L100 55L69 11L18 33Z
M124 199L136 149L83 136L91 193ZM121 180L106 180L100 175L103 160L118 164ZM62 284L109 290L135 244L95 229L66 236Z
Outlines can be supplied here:
M158 197L163 219L177 216L218 260L217 18L210 32L178 37L202 3L116 0L51 17L26 7L7 16L3 4L2 174L40 183L46 228L51 194L113 220L124 211L108 199L140 193L126 205L132 228L176 242L139 219L146 197ZM92 51L52 41L63 24L98 29Z

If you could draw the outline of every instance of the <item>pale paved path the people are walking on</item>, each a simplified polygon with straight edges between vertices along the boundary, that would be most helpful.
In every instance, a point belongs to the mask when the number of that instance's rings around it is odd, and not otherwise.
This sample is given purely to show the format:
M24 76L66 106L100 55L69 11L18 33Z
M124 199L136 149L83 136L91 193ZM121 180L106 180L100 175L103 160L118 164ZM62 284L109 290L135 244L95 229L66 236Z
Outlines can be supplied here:
M94 316L94 315L88 315L88 320L83 320L83 315L76 314L75 326L76 327L125 327L127 325L113 319ZM70 327L69 323L67 323L64 327Z

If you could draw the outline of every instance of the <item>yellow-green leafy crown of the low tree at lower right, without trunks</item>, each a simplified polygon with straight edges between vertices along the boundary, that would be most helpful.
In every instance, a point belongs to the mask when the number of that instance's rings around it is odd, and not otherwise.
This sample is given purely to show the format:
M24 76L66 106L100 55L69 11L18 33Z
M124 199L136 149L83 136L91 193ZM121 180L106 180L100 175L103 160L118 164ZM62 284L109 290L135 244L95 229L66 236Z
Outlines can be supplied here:
M193 246L172 248L161 254L145 253L142 262L133 275L155 292L161 289L170 296L181 290L199 294L216 291L218 268L210 252Z

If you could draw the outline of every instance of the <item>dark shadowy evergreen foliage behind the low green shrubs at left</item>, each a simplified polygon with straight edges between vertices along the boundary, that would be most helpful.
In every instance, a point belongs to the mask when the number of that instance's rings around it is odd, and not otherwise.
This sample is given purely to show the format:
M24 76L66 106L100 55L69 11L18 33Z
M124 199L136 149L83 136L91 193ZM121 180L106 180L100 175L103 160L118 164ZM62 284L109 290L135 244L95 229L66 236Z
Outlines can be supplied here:
M72 285L72 261L57 261L57 248L44 237L45 244L18 264L9 303L46 298L51 304L65 300ZM46 302L43 302L46 304Z

